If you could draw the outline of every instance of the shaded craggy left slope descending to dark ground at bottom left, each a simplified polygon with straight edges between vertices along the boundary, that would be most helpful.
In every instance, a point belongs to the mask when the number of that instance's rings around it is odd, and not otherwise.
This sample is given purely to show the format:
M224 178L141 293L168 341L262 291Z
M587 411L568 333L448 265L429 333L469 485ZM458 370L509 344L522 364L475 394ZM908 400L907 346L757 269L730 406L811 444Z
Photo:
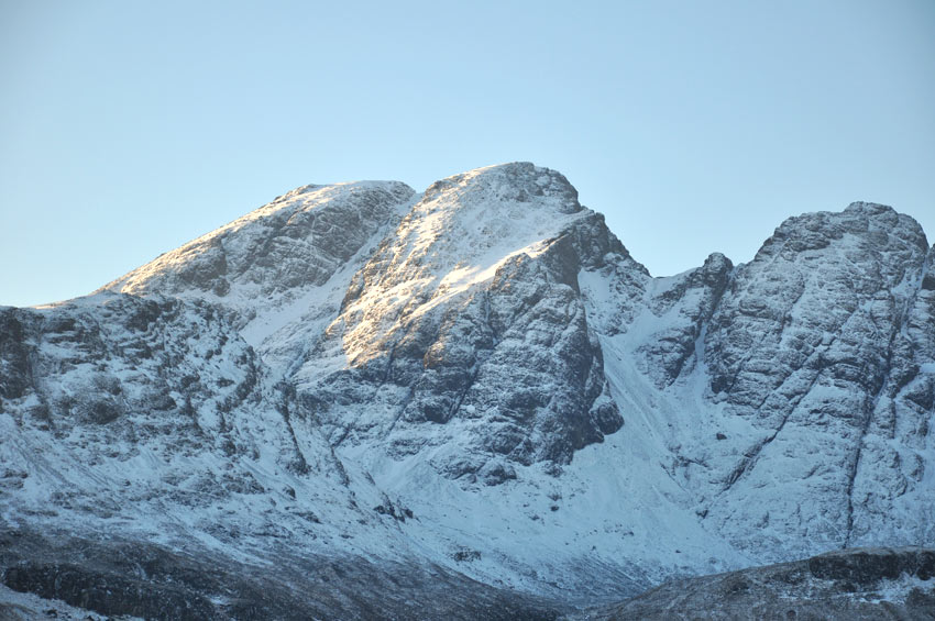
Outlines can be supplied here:
M143 618L554 610L418 550L418 518L334 454L227 314L110 292L0 309L3 584Z

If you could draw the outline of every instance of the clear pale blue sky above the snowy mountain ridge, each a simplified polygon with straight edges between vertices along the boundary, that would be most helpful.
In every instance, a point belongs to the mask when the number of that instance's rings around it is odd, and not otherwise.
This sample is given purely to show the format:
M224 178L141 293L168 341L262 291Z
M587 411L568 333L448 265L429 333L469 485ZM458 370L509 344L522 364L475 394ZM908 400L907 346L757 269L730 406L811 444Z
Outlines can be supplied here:
M564 173L654 275L883 202L935 241L935 1L0 0L0 304L309 182Z

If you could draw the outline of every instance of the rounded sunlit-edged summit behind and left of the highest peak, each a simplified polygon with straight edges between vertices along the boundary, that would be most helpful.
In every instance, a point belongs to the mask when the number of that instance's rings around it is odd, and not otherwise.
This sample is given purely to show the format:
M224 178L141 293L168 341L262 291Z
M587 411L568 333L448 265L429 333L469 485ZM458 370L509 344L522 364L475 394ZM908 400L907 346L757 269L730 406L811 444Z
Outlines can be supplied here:
M399 181L302 186L105 288L252 298L320 286L414 196Z

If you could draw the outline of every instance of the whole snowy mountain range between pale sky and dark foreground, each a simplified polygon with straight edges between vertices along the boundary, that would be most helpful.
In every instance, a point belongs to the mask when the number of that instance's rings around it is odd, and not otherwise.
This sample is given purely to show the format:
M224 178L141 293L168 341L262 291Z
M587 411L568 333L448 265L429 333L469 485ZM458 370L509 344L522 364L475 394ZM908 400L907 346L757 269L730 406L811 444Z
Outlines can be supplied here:
M933 260L854 203L658 278L531 164L307 186L0 309L0 518L438 568L553 611L935 545Z

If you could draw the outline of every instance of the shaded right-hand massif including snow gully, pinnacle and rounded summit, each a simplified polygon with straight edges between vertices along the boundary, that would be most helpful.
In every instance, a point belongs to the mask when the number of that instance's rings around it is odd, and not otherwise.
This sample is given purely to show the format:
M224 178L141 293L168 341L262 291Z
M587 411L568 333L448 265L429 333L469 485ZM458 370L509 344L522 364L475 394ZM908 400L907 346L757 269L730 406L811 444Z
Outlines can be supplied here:
M582 273L627 432L708 529L768 559L935 539L927 251L912 219L855 203L736 269Z

